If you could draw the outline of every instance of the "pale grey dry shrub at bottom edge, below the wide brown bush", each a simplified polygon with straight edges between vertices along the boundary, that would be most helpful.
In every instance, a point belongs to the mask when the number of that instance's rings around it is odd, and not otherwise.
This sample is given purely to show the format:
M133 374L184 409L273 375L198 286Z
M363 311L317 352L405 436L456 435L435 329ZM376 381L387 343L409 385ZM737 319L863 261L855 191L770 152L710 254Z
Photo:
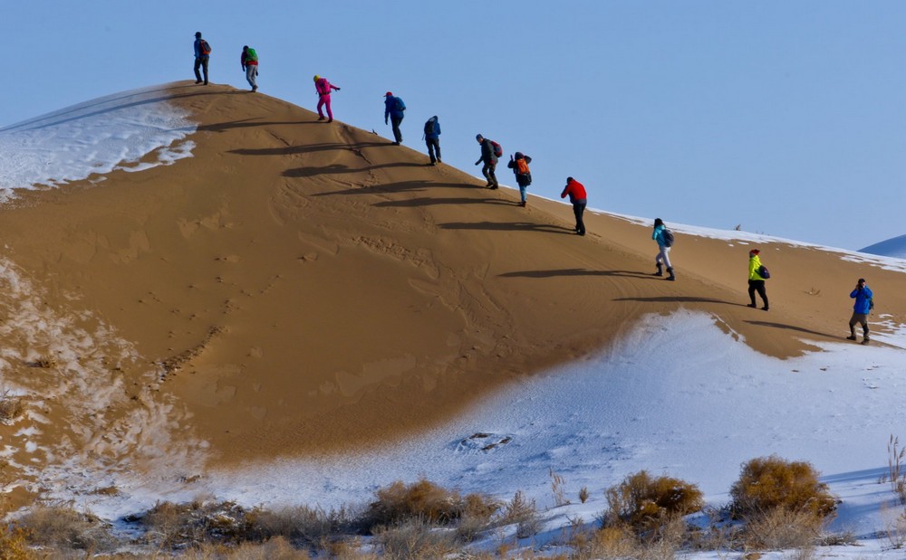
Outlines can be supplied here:
M412 518L393 527L377 527L374 539L382 558L418 560L442 558L457 549L456 535L433 526L427 519Z

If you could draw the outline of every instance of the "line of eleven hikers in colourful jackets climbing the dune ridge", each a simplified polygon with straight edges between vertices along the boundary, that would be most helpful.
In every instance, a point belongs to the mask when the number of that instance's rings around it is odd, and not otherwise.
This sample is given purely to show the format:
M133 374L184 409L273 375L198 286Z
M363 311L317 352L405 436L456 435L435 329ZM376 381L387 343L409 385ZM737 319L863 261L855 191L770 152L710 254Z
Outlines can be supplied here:
M205 39L202 39L200 31L195 33L194 50L195 83L204 83L204 85L207 85L207 66L210 60L211 45L210 43L207 43ZM246 81L248 81L248 85L251 86L252 92L257 91L258 85L256 78L258 75L258 54L255 52L255 49L248 45L243 46L239 62L242 66L242 70L246 72ZM203 71L204 80L202 80L202 73L200 73L199 70ZM318 120L326 119L328 123L331 123L333 122L331 93L333 91L340 91L340 88L333 85L327 78L323 78L319 75L315 75L313 80L314 90L318 95ZM394 146L400 146L402 143L400 124L402 124L402 121L405 118L406 103L404 103L399 96L393 95L392 91L386 92L383 97L384 124L390 124L390 127L392 128L392 144ZM324 116L325 110L327 112L326 117ZM436 166L439 163L442 163L440 159L440 122L437 115L434 115L425 122L424 136L422 138L428 148L428 157L430 160L428 165ZM477 134L475 139L481 147L481 154L475 162L475 165L483 164L481 167L481 174L487 179L487 185L485 186L489 189L499 188L500 185L497 182L496 177L496 166L500 157L503 157L503 147L494 140L485 138L481 134ZM532 184L532 172L528 166L530 163L532 163L531 157L526 156L522 152L516 152L515 155L510 156L510 160L506 164L507 167L513 170L513 174L516 176L516 185L519 186L519 205L523 207L527 204L526 189ZM583 214L585 212L585 206L588 204L588 195L585 192L585 186L573 179L573 177L566 177L566 186L564 186L564 190L560 194L560 197L566 198L567 196L569 196L570 204L573 204L573 215L575 216L574 231L578 235L584 235L585 223L583 221ZM675 237L673 232L670 231L664 221L660 218L654 220L654 229L651 232L651 239L658 243L658 253L654 258L654 265L657 271L654 272L654 276L662 277L664 275L664 270L666 269L667 278L665 280L675 281L676 273L673 269L672 262L670 262L670 249L675 242ZM770 306L767 301L765 280L770 278L770 272L767 271L767 268L761 263L759 255L760 252L757 249L753 249L748 253L748 297L751 300L751 303L749 303L747 307L757 308L755 296L758 294L764 304L762 309L767 311L770 309ZM872 290L868 288L864 279L859 279L856 288L853 289L853 292L850 294L850 298L855 299L855 304L853 306L853 317L850 319L849 323L850 336L847 337L847 339L856 339L855 325L858 324L862 325L863 328L862 344L868 344L870 339L868 336L869 329L867 317L874 307L874 301L872 299Z

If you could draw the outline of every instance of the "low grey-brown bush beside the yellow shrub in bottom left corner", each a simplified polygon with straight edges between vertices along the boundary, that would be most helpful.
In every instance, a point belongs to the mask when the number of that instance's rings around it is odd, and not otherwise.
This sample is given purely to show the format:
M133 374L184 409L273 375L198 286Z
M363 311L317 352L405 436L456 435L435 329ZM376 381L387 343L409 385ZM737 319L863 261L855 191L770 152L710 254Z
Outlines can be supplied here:
M60 552L109 551L116 544L110 524L91 513L69 507L38 506L19 518L30 545L48 546Z

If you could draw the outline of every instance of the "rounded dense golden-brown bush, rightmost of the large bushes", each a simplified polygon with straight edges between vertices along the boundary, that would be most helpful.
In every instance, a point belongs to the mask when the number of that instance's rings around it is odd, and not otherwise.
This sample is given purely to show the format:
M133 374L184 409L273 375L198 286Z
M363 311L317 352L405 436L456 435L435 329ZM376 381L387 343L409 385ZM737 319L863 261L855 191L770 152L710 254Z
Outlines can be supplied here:
M836 503L818 472L803 461L776 455L749 460L730 489L731 509L737 517L752 517L783 508L806 510L817 517L834 513Z

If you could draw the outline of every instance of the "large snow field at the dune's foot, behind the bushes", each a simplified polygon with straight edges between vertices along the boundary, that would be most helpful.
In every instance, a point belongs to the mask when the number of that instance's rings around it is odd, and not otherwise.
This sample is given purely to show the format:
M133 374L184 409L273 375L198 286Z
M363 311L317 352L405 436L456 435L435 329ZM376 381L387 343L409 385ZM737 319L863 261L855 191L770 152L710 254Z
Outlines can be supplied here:
M559 536L567 516L593 522L606 505L603 489L638 470L698 484L720 507L744 461L776 453L811 462L843 498L833 528L852 532L863 546L834 554L887 554L882 505L898 506L879 478L891 435L906 439L906 354L829 343L781 360L721 327L703 313L652 315L600 354L526 376L410 441L210 472L166 495L136 481L134 491L90 507L112 518L157 499L208 495L248 506L330 508L367 501L397 479L424 477L502 499L522 490L545 510L547 532L535 537L538 545ZM564 479L572 505L555 507L552 471ZM579 504L583 487L592 498Z

